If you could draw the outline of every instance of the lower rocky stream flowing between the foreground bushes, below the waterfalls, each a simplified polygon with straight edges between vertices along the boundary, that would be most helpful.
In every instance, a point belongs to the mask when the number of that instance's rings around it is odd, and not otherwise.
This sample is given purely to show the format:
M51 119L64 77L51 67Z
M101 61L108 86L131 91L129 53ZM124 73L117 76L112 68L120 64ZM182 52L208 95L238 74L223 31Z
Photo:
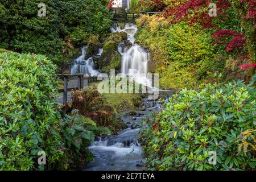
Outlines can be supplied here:
M160 111L159 101L143 99L144 111L125 111L121 117L128 126L118 135L105 138L98 137L89 147L94 155L94 162L87 164L83 170L89 171L142 171L145 160L138 143L137 134L143 119L151 112Z

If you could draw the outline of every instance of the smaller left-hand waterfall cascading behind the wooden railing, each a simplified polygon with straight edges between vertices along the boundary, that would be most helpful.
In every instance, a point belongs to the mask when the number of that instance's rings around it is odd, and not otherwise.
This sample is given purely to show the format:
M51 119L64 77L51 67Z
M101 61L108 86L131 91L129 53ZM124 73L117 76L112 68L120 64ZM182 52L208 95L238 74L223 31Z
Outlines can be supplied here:
M71 67L71 74L75 75L77 73L89 73L90 76L98 76L100 72L94 69L94 62L93 58L90 57L88 60L85 60L86 56L86 49L87 47L82 47L82 55L79 56L75 61L72 63ZM101 54L101 50L99 50L98 54Z

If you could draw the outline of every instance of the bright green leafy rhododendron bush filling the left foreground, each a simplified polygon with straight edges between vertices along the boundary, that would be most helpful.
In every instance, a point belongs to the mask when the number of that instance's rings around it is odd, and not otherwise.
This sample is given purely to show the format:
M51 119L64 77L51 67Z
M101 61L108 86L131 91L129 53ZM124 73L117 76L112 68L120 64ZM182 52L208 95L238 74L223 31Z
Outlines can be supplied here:
M2 52L2 51L0 51ZM46 57L0 53L0 170L52 168L62 155L56 67ZM38 166L45 151L47 166Z

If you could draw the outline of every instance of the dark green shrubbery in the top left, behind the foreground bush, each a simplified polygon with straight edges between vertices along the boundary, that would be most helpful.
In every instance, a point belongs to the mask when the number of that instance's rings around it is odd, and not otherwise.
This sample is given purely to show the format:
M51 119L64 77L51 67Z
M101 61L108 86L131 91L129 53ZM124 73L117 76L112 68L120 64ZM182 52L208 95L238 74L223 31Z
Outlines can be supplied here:
M38 16L39 3L46 4L46 17ZM55 62L71 61L74 47L110 30L110 13L99 0L1 1L0 16L0 48Z

